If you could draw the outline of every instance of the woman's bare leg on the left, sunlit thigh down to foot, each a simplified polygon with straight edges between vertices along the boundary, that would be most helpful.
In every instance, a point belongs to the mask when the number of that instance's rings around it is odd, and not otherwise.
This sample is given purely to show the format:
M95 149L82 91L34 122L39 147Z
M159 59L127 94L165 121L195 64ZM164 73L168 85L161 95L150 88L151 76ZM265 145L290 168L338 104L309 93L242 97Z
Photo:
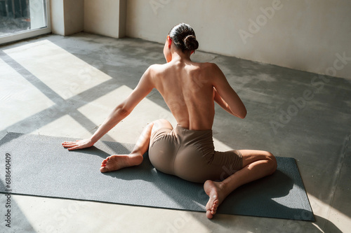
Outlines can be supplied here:
M140 134L138 141L132 152L129 155L111 155L101 163L101 172L116 171L124 167L132 167L139 165L143 162L143 155L149 148L150 136L152 132L157 131L161 127L169 127L172 125L164 119L155 120L145 127Z

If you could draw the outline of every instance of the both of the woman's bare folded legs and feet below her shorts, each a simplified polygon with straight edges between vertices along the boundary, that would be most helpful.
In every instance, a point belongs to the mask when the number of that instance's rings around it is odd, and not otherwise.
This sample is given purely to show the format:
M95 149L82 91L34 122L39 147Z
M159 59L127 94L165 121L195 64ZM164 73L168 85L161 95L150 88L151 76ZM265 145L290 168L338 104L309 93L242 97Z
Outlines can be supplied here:
M102 161L100 171L116 171L124 167L139 165L143 162L143 155L149 148L150 136L161 128L172 129L167 120L156 120L145 127L133 151L129 155L111 155ZM208 180L204 183L204 190L209 199L206 204L207 218L213 218L221 202L239 186L256 181L272 174L277 169L275 157L263 150L239 150L243 159L243 168L235 172L224 181Z

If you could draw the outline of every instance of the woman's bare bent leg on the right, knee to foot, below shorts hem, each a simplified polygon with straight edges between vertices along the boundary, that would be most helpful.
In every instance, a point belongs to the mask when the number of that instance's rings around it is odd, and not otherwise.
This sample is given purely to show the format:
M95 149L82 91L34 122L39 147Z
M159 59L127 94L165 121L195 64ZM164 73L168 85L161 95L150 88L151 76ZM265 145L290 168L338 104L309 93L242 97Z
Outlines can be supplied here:
M209 197L206 204L207 218L213 218L218 205L239 186L268 176L277 169L274 155L263 150L239 150L243 159L243 168L224 181L206 181L204 190Z

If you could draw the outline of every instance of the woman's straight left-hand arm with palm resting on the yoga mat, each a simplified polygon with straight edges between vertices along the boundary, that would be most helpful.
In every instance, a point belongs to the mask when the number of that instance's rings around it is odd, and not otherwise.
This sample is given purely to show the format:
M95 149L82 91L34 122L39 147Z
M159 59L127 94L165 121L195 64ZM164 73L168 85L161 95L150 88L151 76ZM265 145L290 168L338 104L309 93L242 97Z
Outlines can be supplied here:
M129 94L129 96L121 104L114 108L112 113L110 113L106 120L102 122L102 125L100 125L98 130L91 136L90 139L64 142L62 143L62 146L68 148L68 150L77 150L93 146L96 141L107 134L107 132L121 122L121 120L126 118L126 116L133 111L135 106L137 106L137 104L139 104L139 102L151 92L151 90L154 88L151 75L152 66L145 71L133 92L131 92L131 94Z

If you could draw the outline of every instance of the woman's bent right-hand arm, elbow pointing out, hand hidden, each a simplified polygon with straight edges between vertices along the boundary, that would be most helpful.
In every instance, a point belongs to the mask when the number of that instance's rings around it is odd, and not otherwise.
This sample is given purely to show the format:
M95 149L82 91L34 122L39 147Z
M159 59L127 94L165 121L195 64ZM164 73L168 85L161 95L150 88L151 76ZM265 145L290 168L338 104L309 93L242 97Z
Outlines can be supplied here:
M211 64L211 75L213 77L214 100L228 113L245 118L246 108L230 84L224 73L216 64Z

